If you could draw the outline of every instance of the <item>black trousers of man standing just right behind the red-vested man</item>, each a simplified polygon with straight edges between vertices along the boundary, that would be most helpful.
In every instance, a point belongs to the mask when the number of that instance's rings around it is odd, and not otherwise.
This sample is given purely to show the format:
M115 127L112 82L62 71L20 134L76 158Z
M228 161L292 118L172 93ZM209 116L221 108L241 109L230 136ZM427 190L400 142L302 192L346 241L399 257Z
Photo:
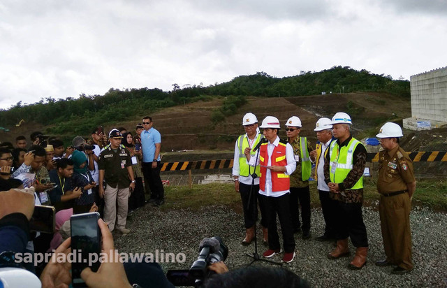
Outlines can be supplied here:
M300 207L301 206L301 221L300 224ZM293 231L310 231L310 190L307 187L291 187L291 201L290 201L291 219Z

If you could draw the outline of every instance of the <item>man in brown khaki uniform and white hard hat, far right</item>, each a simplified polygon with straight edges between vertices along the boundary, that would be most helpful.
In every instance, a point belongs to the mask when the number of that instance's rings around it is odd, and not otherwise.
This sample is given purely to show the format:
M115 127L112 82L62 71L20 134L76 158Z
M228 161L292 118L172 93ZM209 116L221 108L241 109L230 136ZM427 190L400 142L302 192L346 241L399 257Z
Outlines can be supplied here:
M393 274L413 270L409 215L416 180L411 159L399 146L402 136L400 126L391 122L376 135L384 150L379 153L377 191L381 194L379 214L386 254L386 259L377 261L376 266L397 265Z

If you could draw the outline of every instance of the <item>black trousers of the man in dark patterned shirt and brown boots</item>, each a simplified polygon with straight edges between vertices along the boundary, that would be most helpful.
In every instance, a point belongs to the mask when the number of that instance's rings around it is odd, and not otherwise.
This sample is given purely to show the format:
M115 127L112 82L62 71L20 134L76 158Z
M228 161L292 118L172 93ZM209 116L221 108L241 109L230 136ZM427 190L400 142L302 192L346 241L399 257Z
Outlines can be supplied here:
M337 201L337 239L351 237L355 247L368 247L365 223L363 223L362 203L342 203Z

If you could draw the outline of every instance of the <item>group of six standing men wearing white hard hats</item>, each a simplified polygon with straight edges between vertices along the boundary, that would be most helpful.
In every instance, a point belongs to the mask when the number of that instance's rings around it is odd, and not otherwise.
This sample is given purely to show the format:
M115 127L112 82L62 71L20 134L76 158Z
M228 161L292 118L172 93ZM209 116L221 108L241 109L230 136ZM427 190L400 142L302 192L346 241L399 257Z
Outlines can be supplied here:
M287 138L281 140L277 117L265 117L258 127L256 115L244 115L245 134L235 143L233 165L235 191L240 193L244 209L246 233L242 245L249 245L256 237L259 206L263 243L268 246L263 257L284 252L282 261L290 263L295 259L294 235L301 233L302 239L311 238L309 178L315 164L325 220L325 230L316 240L335 240L337 245L328 258L338 259L349 255L350 238L356 253L348 267L358 270L365 266L368 239L362 203L367 150L351 136L351 124L351 117L343 112L336 113L332 120L318 119L314 150L307 138L300 136L302 124L298 116L286 121ZM263 129L263 135L258 128ZM376 135L383 148L377 189L381 194L379 213L386 254L386 259L376 265L395 266L393 274L413 270L409 213L416 180L411 159L399 146L402 136L400 126L391 122ZM279 243L277 218L284 251Z

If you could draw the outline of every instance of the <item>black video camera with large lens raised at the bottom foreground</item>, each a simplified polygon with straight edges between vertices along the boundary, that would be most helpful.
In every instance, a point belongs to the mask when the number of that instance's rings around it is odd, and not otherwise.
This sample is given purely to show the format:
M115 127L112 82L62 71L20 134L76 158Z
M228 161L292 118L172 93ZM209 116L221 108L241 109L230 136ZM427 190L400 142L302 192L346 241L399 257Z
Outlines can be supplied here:
M223 244L219 236L204 238L200 242L197 260L189 270L169 270L166 274L168 280L174 286L201 287L204 280L210 278L214 271L208 270L208 266L214 262L225 261L228 256L228 247Z

